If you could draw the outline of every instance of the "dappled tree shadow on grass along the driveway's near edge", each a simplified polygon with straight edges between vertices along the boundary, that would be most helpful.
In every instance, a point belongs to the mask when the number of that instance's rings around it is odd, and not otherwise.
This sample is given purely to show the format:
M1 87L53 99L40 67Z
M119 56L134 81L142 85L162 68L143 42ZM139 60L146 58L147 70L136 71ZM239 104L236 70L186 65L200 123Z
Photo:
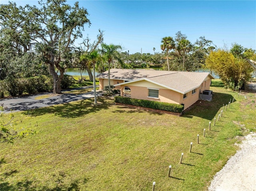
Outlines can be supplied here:
M94 98L83 99L80 101L34 109L32 111L26 111L26 113L32 113L32 116L40 116L53 113L56 116L64 118L76 118L92 112L106 110L109 108L109 106L112 105L112 100L108 98L98 98L97 101L99 104L93 105Z

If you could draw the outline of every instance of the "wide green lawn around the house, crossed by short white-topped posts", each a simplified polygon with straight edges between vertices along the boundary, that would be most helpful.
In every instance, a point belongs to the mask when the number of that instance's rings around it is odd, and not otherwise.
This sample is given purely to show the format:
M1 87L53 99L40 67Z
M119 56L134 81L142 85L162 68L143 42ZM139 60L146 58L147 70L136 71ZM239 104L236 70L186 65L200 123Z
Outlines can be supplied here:
M1 191L150 191L153 181L155 191L204 191L235 154L239 137L256 131L255 93L238 98L218 80L211 89L211 102L198 101L180 117L125 108L107 97L95 106L90 99L33 110L17 127L37 133L0 145Z

